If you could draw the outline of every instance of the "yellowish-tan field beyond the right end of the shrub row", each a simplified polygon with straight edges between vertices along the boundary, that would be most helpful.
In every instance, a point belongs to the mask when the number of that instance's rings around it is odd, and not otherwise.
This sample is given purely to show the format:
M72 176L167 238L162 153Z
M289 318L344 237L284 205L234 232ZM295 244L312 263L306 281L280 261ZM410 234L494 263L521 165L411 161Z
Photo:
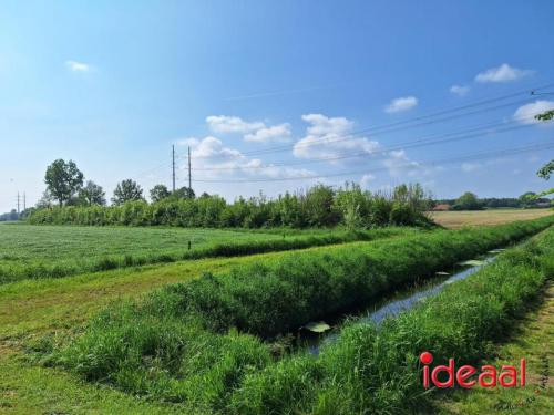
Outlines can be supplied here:
M552 209L493 209L473 211L432 211L431 218L450 229L464 226L490 226L507 224L514 220L530 220L554 215Z

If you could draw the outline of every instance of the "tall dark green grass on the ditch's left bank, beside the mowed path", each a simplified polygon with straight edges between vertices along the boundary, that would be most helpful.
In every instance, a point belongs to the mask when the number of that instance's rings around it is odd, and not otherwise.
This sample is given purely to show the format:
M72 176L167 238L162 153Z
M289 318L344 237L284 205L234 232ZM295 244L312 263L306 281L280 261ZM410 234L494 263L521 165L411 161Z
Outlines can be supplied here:
M198 317L209 330L237 328L269 338L366 305L391 288L432 276L553 222L545 218L298 252L277 263L243 266L228 274L206 273L189 283L168 286L155 301L171 303L176 317Z

